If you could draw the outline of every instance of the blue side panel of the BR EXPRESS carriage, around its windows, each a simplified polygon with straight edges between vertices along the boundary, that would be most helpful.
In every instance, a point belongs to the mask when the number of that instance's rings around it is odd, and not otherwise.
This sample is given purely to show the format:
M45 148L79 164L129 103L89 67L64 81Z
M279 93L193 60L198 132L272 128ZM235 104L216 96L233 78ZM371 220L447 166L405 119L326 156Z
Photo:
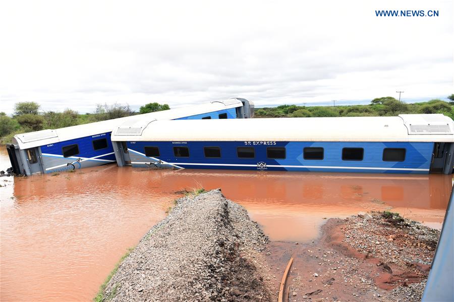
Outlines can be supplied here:
M159 147L160 156L145 156L145 146ZM173 147L186 146L189 157L175 157ZM220 147L220 158L205 158L203 147ZM237 157L237 147L251 146L255 158ZM285 159L268 159L267 147L285 147ZM305 147L323 147L323 160L305 160ZM342 149L361 147L364 149L362 161L342 160ZM432 142L239 142L239 141L189 141L189 142L128 142L134 154L133 166L143 167L145 162L162 160L168 166L192 169L235 169L273 171L318 171L318 172L363 172L363 173L428 173L432 156ZM385 162L382 159L384 148L405 148L403 162Z

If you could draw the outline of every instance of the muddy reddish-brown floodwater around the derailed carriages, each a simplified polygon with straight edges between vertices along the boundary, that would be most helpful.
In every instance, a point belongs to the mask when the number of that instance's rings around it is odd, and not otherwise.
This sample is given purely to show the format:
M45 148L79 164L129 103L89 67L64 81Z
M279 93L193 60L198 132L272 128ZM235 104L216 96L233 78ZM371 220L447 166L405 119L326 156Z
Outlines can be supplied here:
M0 149L0 170L10 167ZM221 188L272 241L316 238L331 217L389 209L441 228L450 175L219 170L115 165L0 178L0 299L91 300L115 263L183 189ZM5 186L6 185L6 186Z

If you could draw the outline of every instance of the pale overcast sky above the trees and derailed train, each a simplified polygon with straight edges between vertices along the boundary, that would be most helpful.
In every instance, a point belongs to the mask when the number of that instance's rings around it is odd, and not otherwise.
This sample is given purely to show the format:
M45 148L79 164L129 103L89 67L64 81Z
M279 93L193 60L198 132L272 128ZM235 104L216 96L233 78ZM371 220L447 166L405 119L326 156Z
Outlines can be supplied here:
M376 17L437 10L439 17ZM452 1L0 4L0 111L407 102L454 93Z

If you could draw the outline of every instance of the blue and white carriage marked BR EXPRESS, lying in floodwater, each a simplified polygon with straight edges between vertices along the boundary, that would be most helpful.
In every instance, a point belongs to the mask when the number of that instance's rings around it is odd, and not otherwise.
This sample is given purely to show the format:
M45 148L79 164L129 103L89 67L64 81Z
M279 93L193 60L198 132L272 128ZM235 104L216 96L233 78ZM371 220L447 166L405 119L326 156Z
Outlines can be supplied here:
M155 121L112 141L133 167L450 174L454 127L441 114Z

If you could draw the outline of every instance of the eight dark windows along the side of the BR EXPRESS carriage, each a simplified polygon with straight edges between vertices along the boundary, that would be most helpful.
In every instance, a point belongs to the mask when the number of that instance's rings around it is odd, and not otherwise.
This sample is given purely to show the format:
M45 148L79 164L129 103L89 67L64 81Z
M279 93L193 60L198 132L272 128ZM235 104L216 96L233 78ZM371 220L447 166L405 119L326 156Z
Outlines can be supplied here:
M203 153L206 158L220 158L220 147L203 147ZM384 148L383 161L384 162L403 162L405 161L405 148ZM146 146L145 155L147 157L159 157L159 147ZM189 157L188 147L174 147L175 157ZM254 147L237 147L237 157L240 159L253 159L255 158ZM266 157L268 159L283 160L286 159L285 147L267 147ZM322 147L306 147L303 149L303 158L305 160L323 160L324 149ZM362 161L364 158L363 148L343 148L342 160L343 161Z

